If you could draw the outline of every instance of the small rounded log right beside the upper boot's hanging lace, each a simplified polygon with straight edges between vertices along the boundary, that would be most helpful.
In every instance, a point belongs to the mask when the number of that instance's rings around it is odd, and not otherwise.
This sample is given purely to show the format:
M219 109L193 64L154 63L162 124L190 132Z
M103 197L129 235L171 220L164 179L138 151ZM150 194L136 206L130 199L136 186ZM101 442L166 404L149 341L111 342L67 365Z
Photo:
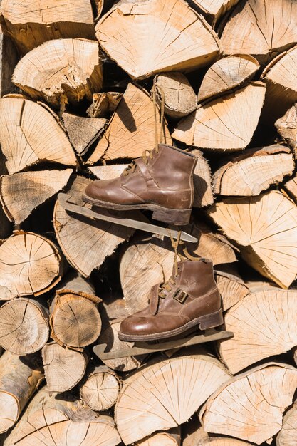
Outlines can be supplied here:
M170 118L183 118L196 110L197 97L184 74L178 71L158 74L155 77L155 86L159 105L164 94L164 110Z

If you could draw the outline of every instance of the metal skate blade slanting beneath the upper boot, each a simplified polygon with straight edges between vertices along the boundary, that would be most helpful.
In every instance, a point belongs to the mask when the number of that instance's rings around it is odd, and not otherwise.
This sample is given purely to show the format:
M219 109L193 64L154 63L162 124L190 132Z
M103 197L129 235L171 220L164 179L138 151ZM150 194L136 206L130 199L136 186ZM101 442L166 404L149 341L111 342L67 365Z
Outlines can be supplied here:
M109 222L114 224L120 224L121 226L139 229L140 231L150 232L151 234L159 234L165 237L171 237L173 239L177 239L179 237L179 232L175 229L167 229L162 226L158 226L157 224L152 224L147 221L140 222L135 219L130 219L126 217L120 217L118 214L111 214L108 209L102 209L96 207L96 209L100 209L100 212L95 212L88 207L80 206L80 204L75 203L75 198L71 197L69 194L65 194L60 192L58 194L58 201L66 212L71 212L73 214L82 215L83 217L87 217L95 220L102 220L103 222ZM145 216L143 216L145 219ZM182 231L180 234L180 240L183 242L197 243L198 239L193 237L187 232Z

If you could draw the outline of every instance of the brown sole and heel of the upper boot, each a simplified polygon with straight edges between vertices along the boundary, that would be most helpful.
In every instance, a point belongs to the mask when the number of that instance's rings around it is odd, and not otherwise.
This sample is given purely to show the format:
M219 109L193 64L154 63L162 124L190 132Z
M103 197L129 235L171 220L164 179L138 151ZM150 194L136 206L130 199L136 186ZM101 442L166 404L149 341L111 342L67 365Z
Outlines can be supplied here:
M105 209L111 209L113 211L132 211L136 209L143 209L152 211L152 219L158 220L163 223L171 223L179 226L184 226L189 223L191 217L190 209L168 209L166 207L158 206L157 204L115 204L110 202L104 202L100 199L88 197L83 195L83 201L93 206L103 207Z

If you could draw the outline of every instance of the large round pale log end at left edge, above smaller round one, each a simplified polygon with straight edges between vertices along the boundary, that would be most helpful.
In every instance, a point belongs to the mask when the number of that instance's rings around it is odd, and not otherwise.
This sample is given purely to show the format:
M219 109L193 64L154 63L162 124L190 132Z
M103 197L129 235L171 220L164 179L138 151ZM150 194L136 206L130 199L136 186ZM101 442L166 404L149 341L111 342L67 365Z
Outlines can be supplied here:
M15 231L0 246L1 299L39 296L61 280L65 265L51 240L33 232Z

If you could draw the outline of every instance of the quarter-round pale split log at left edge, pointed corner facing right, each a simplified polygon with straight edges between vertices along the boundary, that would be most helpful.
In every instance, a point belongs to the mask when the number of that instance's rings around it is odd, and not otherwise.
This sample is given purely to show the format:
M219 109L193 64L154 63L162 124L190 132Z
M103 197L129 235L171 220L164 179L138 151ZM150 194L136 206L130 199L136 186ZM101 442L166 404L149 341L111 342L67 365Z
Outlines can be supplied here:
M76 165L66 133L40 104L21 97L0 99L0 126L0 145L9 174L41 161Z

